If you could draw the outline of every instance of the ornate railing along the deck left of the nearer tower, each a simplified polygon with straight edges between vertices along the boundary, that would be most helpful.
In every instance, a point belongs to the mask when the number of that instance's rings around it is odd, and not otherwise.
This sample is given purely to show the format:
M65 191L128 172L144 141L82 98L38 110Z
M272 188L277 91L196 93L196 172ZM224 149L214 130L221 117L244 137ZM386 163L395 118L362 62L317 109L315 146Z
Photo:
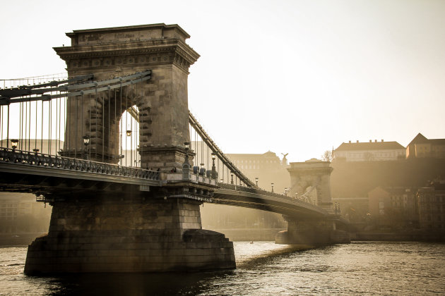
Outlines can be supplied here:
M105 164L98 161L86 159L73 159L69 157L55 156L23 150L1 148L0 163L10 163L28 166L44 166L71 171L84 171L106 175L120 175L130 178L147 180L159 180L158 171L145 170L143 168L119 166L117 164Z

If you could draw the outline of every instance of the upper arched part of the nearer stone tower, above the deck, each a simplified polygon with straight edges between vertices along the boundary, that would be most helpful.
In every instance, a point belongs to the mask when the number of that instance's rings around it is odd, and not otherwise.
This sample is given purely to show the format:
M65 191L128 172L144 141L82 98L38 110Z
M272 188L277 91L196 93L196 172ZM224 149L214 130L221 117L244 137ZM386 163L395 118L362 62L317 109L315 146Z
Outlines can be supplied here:
M179 25L136 25L66 33L71 47L55 47L66 61L69 77L93 73L94 80L151 70L151 79L122 90L68 101L64 155L81 154L90 137L93 160L119 161L119 121L131 106L139 111L142 168L160 171L184 163L189 141L187 78L199 55ZM79 124L83 121L82 124Z

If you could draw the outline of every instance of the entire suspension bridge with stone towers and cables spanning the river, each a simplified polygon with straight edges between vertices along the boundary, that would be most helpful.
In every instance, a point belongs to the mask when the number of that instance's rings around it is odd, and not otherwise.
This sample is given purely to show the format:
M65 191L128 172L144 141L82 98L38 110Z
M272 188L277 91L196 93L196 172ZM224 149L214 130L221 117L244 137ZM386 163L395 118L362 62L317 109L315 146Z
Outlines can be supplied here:
M1 81L0 188L53 206L25 273L235 268L232 242L201 228L203 202L283 214L278 242L348 241L328 183L321 206L261 190L190 113L199 55L181 27L66 35L66 74Z

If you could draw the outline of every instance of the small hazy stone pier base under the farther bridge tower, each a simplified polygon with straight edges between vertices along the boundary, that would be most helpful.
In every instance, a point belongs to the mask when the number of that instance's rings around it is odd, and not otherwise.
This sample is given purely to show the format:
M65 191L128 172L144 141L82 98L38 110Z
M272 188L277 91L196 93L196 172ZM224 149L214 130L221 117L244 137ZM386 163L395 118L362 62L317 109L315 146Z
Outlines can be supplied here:
M280 231L275 237L276 244L286 245L332 245L350 242L348 230L338 229L335 218L300 219L284 216L287 230Z

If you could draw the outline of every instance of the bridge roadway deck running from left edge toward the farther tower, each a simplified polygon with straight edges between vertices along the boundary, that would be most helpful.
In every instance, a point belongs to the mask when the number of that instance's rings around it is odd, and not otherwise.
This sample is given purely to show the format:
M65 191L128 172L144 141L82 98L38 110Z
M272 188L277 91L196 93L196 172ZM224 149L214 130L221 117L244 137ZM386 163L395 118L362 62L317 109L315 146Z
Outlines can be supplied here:
M184 183L182 173L168 173L166 177L161 180L161 173L142 168L0 149L0 190L6 192L31 192L36 195L60 195L68 192L94 194L97 191L143 194L144 191L150 191L150 187L162 187L169 183L174 185L178 181ZM288 216L328 216L328 212L319 206L258 187L216 183L215 180L194 174L191 174L189 181L214 185L213 193L200 199L204 202L261 209Z

